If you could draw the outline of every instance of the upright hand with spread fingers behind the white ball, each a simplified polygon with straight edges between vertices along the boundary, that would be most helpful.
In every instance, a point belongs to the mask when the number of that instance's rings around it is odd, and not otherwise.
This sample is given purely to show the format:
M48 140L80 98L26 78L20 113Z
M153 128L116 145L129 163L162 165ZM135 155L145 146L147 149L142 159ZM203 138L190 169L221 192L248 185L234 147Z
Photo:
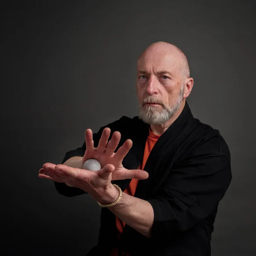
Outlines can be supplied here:
M102 131L102 136L99 140L97 148L94 148L93 132L91 129L85 131L85 143L86 150L82 160L84 162L90 158L94 158L99 161L101 166L112 164L115 169L111 175L112 180L123 180L123 179L140 179L144 180L148 178L148 172L143 170L128 170L122 165L122 160L132 147L132 141L126 140L125 143L114 153L116 147L121 139L119 131L115 131L108 142L108 138L111 134L110 128L105 128Z

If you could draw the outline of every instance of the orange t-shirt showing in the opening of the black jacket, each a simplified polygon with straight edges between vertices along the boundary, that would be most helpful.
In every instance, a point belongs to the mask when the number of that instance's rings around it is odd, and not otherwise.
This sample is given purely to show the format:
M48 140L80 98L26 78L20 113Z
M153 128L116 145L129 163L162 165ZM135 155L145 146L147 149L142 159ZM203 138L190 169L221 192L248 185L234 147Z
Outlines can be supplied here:
M145 164L148 160L148 156L160 136L161 135L154 134L149 128L149 134L148 134L148 138L146 140L145 149L144 149L143 161L142 161L142 164L140 164L140 166L138 167L138 169L140 170L144 169ZM139 180L132 179L129 186L123 192L128 195L134 196L138 182ZM124 227L125 227L125 222L123 222L121 219L116 217L116 228L118 231L118 238L122 234ZM118 256L118 250L116 248L112 249L111 256Z

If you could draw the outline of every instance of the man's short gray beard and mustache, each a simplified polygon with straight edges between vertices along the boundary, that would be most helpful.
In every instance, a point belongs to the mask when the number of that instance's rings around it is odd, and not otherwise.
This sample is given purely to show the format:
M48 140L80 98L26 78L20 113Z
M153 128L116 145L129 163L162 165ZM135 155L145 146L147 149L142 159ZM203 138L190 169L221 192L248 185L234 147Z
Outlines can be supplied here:
M158 106L147 106L143 107L143 105L139 106L139 119L143 120L143 122L149 125L162 125L167 122L175 112L180 108L180 105L183 101L183 92L184 86L180 90L179 97L177 101L171 106L164 104L163 102L156 101L154 97L148 96L145 98L146 102L156 102L162 105L162 109L159 109Z

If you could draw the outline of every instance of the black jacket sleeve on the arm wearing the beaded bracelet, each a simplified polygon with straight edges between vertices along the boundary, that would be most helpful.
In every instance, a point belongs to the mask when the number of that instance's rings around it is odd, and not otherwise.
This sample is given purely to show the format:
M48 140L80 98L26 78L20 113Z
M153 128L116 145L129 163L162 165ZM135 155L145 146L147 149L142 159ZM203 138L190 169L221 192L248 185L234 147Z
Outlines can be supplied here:
M175 166L157 195L147 200L154 210L151 238L175 236L207 218L231 179L230 160L219 152L198 152Z

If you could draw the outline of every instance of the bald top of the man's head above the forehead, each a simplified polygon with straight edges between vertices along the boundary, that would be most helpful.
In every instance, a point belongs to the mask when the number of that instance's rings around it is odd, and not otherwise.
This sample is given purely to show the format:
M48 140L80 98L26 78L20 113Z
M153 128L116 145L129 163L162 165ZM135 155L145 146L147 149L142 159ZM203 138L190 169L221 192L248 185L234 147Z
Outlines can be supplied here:
M186 55L183 51L175 46L174 44L169 44L166 42L156 42L148 46L140 55L137 61L137 66L145 61L145 58L173 58L175 60L175 65L179 69L179 72L183 79L189 78L189 63Z

